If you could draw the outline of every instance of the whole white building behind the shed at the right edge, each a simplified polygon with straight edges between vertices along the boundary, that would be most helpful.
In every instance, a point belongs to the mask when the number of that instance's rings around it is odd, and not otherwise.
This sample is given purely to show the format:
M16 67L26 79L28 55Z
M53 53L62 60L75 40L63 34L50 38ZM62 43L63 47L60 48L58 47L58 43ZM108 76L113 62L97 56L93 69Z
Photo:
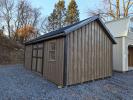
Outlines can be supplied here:
M115 37L117 45L113 47L113 68L116 71L128 71L133 68L133 18L126 17L106 23Z

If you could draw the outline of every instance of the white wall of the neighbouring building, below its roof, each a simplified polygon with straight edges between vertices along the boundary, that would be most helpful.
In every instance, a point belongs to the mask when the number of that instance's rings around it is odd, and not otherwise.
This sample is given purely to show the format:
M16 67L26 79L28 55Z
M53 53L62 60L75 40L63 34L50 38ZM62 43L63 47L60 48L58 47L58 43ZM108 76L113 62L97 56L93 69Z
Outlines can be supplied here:
M120 72L128 71L128 46L133 45L133 33L115 40L117 44L113 46L113 69Z

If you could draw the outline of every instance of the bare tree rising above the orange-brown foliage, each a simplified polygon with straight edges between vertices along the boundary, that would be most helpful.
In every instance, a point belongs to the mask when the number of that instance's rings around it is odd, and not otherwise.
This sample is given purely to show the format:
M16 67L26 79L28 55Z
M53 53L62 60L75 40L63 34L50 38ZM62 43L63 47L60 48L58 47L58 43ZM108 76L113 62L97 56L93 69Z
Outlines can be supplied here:
M33 27L31 29L34 29L34 35L31 33L31 36L36 37L38 35L38 22L40 15L41 15L40 9L33 8L27 0L19 1L17 5L17 14L16 14L17 18L14 22L15 23L14 38L19 39L20 31L18 30L24 29L27 26ZM35 29L36 29L36 34L35 34ZM23 38L24 40L26 40L26 38L28 37L31 37L29 35L29 32L27 32L28 35L26 35L26 32L24 33L25 33L24 36L27 36Z

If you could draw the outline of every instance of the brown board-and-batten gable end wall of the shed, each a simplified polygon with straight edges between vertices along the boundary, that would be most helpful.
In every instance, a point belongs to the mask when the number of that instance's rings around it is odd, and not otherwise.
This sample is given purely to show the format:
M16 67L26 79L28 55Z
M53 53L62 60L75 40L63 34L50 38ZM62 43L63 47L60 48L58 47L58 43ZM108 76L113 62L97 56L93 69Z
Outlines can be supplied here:
M68 34L67 85L112 75L112 41L97 21Z

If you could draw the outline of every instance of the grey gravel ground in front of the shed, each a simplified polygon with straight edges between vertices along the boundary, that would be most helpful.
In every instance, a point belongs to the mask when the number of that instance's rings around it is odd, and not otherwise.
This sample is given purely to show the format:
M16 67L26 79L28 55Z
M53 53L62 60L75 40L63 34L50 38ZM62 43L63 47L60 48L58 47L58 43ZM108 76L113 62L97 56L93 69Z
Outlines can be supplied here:
M132 100L133 71L58 89L22 65L0 66L0 100Z

